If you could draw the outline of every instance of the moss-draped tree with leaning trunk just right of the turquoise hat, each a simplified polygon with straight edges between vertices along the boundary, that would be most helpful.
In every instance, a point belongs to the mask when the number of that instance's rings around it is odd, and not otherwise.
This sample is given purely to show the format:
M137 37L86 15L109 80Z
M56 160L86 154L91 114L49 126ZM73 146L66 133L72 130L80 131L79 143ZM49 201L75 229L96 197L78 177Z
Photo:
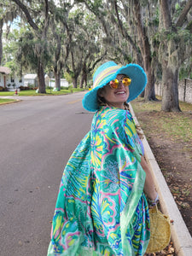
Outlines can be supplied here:
M130 56L125 57L126 51L129 52L130 49L134 52L135 60L144 66L148 76L145 101L154 100L154 67L152 66L151 45L143 22L141 1L132 0L129 5L124 0L80 2L84 2L85 6L100 20L107 37L104 43L111 44L113 49L118 49L119 54L124 56L124 60L121 59L122 62L132 61ZM131 24L131 26L129 27L127 24Z

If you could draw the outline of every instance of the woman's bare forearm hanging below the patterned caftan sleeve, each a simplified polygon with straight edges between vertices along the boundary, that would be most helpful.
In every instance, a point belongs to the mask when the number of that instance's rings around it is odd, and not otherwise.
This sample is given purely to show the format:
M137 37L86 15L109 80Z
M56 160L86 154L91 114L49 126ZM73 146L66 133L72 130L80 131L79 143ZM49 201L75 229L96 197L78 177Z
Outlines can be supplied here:
M141 158L140 164L146 173L144 192L148 196L148 199L150 199L151 201L155 201L155 199L157 198L157 191L154 187L154 179L152 177L148 163L146 162L143 156Z

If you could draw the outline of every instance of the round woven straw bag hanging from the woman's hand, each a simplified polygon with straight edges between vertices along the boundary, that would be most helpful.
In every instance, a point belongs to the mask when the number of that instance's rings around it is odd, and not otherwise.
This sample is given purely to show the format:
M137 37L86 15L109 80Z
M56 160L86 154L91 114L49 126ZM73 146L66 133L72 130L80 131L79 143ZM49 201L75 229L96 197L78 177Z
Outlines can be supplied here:
M149 209L149 217L151 235L146 253L160 252L171 239L170 219L158 210L157 205Z

